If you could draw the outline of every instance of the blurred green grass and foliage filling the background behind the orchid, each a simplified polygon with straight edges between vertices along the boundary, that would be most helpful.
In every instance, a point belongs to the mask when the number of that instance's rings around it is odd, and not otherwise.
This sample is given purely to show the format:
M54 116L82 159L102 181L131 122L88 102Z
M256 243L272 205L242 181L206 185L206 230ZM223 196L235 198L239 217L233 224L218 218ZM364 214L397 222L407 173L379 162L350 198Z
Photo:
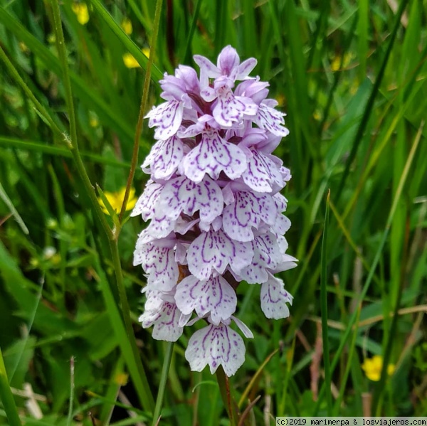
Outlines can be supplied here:
M132 252L143 224L125 216L115 241L82 180L84 166L102 191L126 185L142 48L153 54L151 107L162 73L194 66L195 53L215 60L227 44L258 59L254 73L288 114L276 154L292 171L288 252L300 260L281 275L295 298L290 319L265 319L258 286L238 288L238 317L255 339L230 385L241 412L260 395L243 421L427 415L427 2L397 3L165 0L157 28L155 1L90 0L82 25L64 0L65 66L56 0L0 1L0 424L149 423L166 378L160 424L227 424L216 378L189 371L188 331L172 349L137 323L144 277ZM125 66L128 52L140 68ZM138 164L152 144L144 124ZM137 193L146 181L138 169ZM375 354L396 365L393 376L364 376Z

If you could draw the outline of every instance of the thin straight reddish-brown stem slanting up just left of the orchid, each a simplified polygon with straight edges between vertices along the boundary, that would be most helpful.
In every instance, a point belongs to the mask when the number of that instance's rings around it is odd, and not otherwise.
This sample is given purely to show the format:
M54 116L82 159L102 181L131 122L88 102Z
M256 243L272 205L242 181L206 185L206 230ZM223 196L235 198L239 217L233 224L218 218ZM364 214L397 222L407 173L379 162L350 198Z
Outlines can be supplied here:
M133 147L133 151L132 151L132 161L130 163L129 176L127 177L125 198L123 198L122 208L120 210L120 215L119 215L120 222L122 222L123 215L125 214L125 211L126 211L127 200L129 200L130 188L132 187L132 181L133 181L133 178L135 176L135 170L137 169L138 152L139 152L139 137L141 137L142 127L144 124L144 111L147 109L149 82L150 82L150 77L151 77L151 72L152 72L154 51L155 51L156 43L157 43L157 34L159 33L160 16L162 15L162 4L163 4L163 0L157 0L156 12L154 14L154 27L153 27L153 34L152 34L152 43L151 43L149 59L148 59L148 63L147 63L147 70L145 72L144 88L142 90L141 106L139 107L137 128L135 130L134 147ZM118 236L119 235L117 233L116 238L118 238Z

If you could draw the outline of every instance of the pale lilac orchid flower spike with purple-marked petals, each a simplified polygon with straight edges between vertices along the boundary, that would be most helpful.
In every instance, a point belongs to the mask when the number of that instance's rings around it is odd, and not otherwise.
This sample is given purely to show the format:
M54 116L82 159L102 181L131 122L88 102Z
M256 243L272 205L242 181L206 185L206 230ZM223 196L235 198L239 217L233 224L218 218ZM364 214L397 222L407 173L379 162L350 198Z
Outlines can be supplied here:
M287 136L268 83L249 74L231 46L216 65L200 55L160 81L164 102L147 114L155 144L142 170L150 175L132 215L150 220L139 234L134 265L147 277L142 326L154 339L176 341L203 319L185 356L191 370L222 366L232 376L243 364L236 287L260 285L268 318L289 316L292 296L274 274L295 267L283 236L290 220L280 190L290 171L272 152ZM245 284L247 285L247 284ZM231 328L233 321L240 333Z

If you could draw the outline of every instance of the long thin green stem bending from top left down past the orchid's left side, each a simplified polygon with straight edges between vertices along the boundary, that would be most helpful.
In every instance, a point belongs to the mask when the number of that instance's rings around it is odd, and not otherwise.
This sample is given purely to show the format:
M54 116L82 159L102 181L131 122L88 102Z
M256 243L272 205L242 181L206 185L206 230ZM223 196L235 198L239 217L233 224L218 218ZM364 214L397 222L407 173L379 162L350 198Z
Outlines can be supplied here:
M139 354L137 351L137 344L136 344L135 336L132 330L132 321L130 319L129 304L127 302L125 286L123 285L122 266L120 263L119 251L117 247L117 238L116 238L116 235L118 235L120 230L117 230L117 227L115 227L115 230L111 230L110 225L108 225L105 215L104 213L102 213L100 205L97 201L95 189L93 188L92 183L90 183L89 176L86 172L85 166L80 156L80 151L78 149L78 140L77 140L77 130L76 130L77 127L75 124L73 94L71 92L70 75L68 73L68 62L67 62L67 55L66 55L66 49L65 49L65 40L64 40L63 28L60 20L60 9L59 9L58 0L51 0L50 3L53 9L53 21L54 21L54 30L56 35L56 43L57 43L60 63L63 69L63 84L65 87L65 100L67 103L68 117L70 119L70 140L66 139L66 142L68 144L68 147L71 153L73 154L73 160L75 162L78 175L80 176L80 179L83 181L85 193L88 195L90 199L90 203L92 205L91 207L95 211L97 218L102 225L102 229L105 231L105 234L107 235L108 240L110 241L112 264L115 270L117 288L120 295L120 305L122 307L122 316L123 316L123 319L125 320L126 333L130 341L130 344L132 346L132 353L135 358L135 363L138 368L139 376L143 383L142 390L138 392L139 402L141 403L144 409L152 411L154 408L154 400L152 398L151 390L149 388L147 376L145 375L145 372L144 372L144 367L142 366L142 362L141 362L141 359L139 358Z

